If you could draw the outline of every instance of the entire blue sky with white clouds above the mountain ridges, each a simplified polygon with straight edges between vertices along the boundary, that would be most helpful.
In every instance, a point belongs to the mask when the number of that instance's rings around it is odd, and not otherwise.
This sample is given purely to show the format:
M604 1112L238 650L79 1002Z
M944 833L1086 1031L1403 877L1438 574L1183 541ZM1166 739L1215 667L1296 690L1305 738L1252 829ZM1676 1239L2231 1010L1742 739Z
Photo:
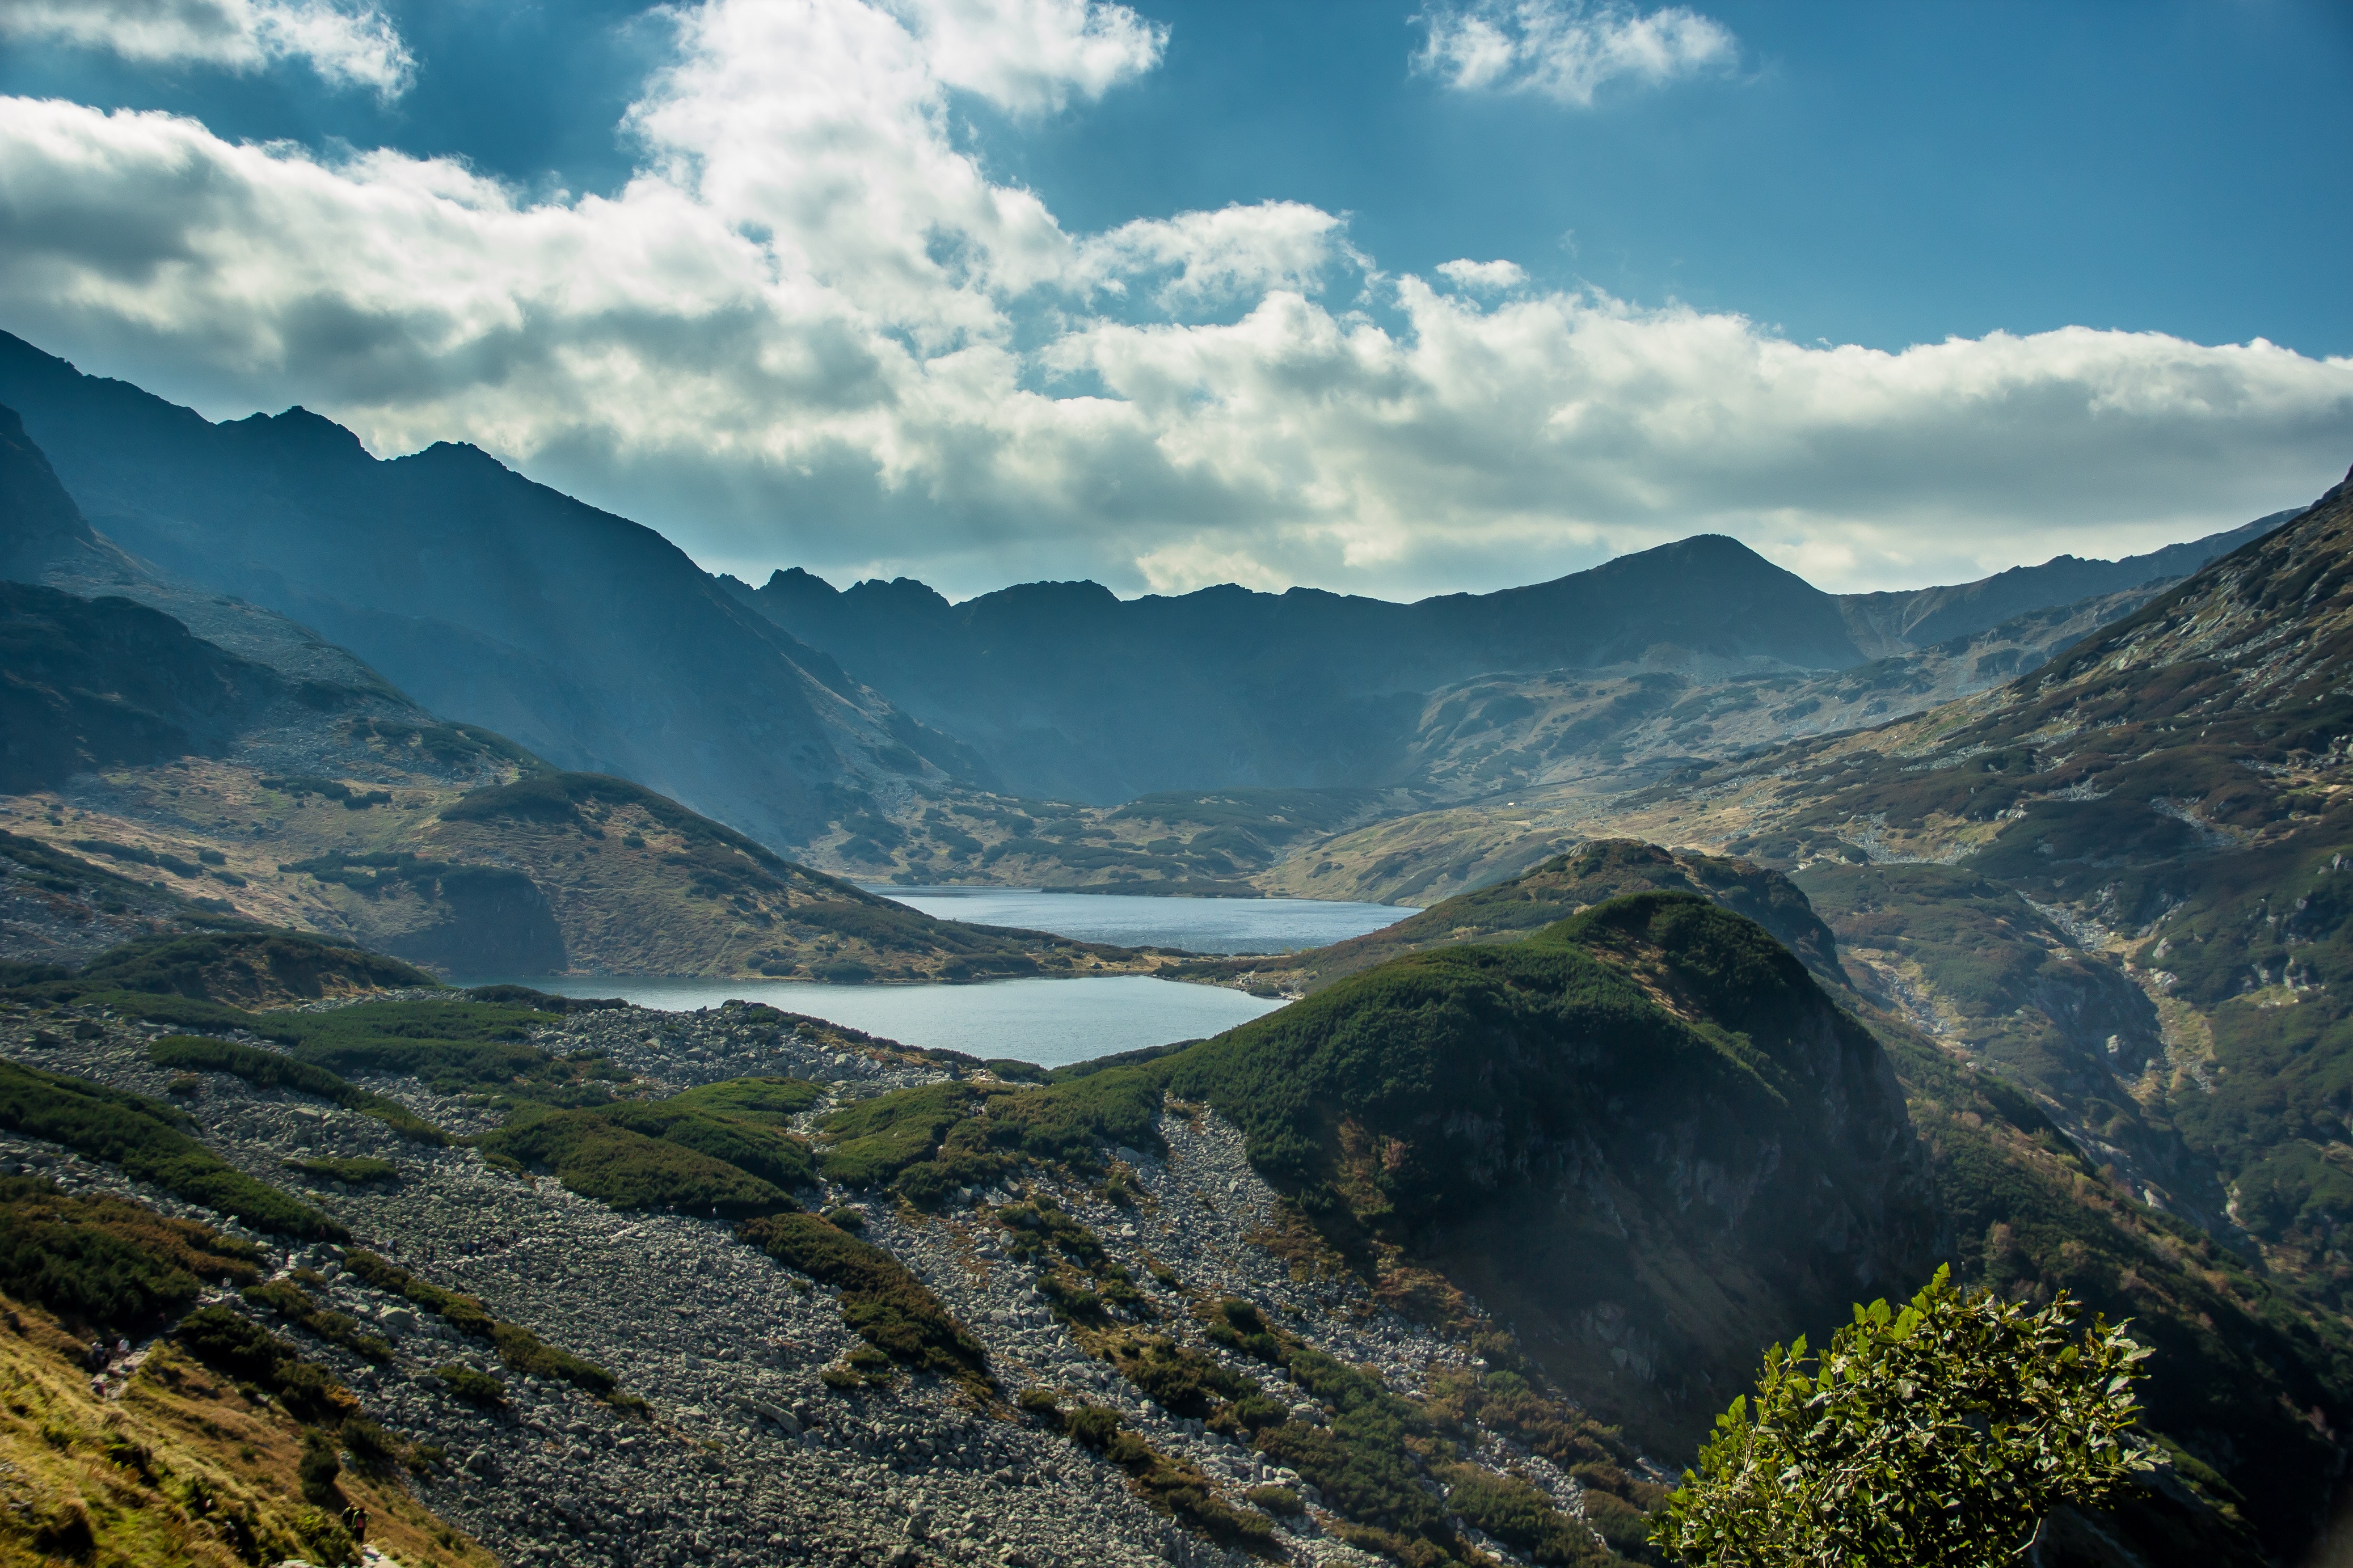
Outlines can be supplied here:
M1908 588L2344 475L2348 68L2339 0L0 0L0 327L751 581Z

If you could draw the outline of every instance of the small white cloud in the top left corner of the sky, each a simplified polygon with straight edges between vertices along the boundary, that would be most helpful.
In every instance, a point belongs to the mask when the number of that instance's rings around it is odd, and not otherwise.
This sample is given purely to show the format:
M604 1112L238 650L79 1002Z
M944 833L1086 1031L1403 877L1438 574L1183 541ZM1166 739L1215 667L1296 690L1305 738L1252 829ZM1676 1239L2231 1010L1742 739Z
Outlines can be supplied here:
M416 75L374 5L339 0L0 0L0 35L228 71L299 59L339 87L398 99Z

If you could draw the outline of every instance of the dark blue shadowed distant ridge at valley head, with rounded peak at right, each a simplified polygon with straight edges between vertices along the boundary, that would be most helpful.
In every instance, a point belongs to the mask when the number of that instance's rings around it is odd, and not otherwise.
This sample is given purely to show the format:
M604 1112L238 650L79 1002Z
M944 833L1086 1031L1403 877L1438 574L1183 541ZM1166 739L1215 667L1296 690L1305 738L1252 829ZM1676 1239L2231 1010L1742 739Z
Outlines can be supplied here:
M1231 585L1122 602L1096 583L948 604L906 578L833 592L798 569L748 599L1014 790L1096 804L1388 783L1414 693L1487 670L1861 661L1828 595L1715 536L1419 604Z

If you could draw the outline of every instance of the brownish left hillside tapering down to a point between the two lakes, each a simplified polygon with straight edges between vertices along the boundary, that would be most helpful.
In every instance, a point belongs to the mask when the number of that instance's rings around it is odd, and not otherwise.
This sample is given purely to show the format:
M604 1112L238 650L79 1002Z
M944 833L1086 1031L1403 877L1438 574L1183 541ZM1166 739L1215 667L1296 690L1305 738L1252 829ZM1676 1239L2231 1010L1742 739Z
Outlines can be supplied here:
M473 976L1153 964L934 922L647 788L445 724L306 628L122 557L21 437L0 440L0 503L16 559L118 590L0 583L0 959L252 919Z

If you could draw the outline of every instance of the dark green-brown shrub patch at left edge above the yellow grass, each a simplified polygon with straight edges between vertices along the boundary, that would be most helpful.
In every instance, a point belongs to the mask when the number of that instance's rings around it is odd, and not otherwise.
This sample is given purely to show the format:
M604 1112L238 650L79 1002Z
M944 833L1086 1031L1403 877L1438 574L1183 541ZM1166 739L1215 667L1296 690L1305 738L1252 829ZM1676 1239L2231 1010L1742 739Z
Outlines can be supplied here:
M205 1281L252 1279L256 1260L249 1244L144 1204L0 1178L0 1293L82 1333L136 1333L176 1316Z

